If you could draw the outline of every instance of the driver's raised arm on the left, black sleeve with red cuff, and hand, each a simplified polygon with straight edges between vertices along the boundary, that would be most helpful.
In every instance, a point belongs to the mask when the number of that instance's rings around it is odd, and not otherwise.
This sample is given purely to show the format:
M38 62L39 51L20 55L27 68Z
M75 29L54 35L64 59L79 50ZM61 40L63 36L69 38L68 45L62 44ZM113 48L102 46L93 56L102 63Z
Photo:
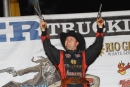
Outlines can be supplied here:
M58 50L51 44L50 36L47 34L46 26L47 26L47 23L41 20L40 21L40 27L42 31L41 40L43 42L43 47L44 47L46 55L48 56L48 58L53 64L57 65L59 64L60 50Z

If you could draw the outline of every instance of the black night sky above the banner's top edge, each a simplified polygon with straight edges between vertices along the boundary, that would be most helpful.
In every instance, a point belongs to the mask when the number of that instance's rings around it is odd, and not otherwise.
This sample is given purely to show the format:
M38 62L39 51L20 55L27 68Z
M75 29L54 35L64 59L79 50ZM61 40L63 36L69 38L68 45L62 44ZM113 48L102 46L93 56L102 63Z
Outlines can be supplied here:
M3 17L3 5L0 0L0 17ZM39 0L42 14L68 14L98 12L102 3L102 12L130 10L129 0ZM34 15L28 0L19 0L21 16Z

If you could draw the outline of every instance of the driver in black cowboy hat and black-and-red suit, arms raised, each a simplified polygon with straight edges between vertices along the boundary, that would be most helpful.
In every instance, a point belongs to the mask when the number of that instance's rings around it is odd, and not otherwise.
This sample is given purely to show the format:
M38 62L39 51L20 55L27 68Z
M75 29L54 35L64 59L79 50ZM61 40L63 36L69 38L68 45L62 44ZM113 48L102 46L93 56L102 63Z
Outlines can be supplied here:
M60 40L65 50L59 50L50 42L46 31L47 23L44 20L40 21L44 50L50 61L59 70L62 87L90 87L89 81L85 78L86 70L99 56L104 37L104 20L98 18L96 22L98 28L96 40L87 49L83 36L71 30L67 33L60 33Z

